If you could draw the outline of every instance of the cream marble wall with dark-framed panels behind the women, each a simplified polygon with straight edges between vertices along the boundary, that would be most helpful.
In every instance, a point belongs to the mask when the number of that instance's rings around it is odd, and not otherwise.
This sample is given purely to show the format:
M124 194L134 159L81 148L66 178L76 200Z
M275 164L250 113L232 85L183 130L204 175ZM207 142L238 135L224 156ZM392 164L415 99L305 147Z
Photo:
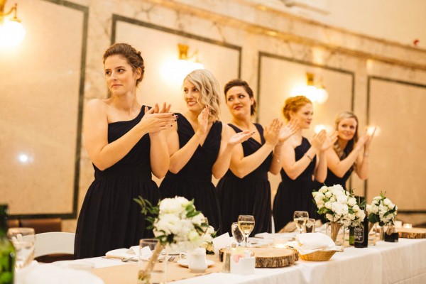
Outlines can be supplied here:
M15 3L23 30L12 44L15 38L1 28ZM203 66L221 90L234 78L249 82L258 103L253 120L263 125L283 119L284 101L294 94L313 100L308 138L318 129L331 132L340 111L354 111L360 131L377 130L369 178L352 175L349 187L367 202L386 192L398 205L398 220L425 226L426 1L0 4L0 203L9 204L11 219L60 218L62 231L75 232L94 178L84 149L84 107L108 97L104 50L130 43L146 65L137 91L142 104L168 102L172 111L184 111L182 79ZM221 99L220 117L228 122ZM280 176L269 178L273 199Z

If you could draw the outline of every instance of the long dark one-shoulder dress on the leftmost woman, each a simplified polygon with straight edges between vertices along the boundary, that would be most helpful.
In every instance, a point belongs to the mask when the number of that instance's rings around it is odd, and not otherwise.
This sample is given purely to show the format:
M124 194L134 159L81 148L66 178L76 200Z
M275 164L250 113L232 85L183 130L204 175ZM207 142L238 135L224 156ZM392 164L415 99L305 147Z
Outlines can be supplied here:
M144 115L108 124L108 143L130 131ZM146 134L119 162L106 170L94 167L94 182L87 190L77 222L75 258L104 256L112 249L129 248L139 239L153 236L141 207L133 198L141 195L157 204L160 194L153 182L150 163L151 141Z

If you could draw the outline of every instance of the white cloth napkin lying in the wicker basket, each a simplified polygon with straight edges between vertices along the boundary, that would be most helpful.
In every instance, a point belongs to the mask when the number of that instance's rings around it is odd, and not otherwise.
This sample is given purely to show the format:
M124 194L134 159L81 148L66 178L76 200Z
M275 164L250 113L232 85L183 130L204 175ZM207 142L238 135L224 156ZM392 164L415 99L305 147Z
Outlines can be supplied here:
M296 240L288 242L287 245L297 249L300 254L337 250L332 238L321 233L298 234Z

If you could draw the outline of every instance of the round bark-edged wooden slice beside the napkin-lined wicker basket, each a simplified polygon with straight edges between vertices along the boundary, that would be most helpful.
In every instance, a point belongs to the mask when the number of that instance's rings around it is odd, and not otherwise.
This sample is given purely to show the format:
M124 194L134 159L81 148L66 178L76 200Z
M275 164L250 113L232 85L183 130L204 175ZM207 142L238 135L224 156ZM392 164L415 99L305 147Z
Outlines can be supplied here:
M239 247L234 249L233 253L239 253L244 256L244 251L252 251L254 253L256 257L256 268L291 266L299 260L299 253L294 249ZM220 250L221 255L222 253L223 249Z

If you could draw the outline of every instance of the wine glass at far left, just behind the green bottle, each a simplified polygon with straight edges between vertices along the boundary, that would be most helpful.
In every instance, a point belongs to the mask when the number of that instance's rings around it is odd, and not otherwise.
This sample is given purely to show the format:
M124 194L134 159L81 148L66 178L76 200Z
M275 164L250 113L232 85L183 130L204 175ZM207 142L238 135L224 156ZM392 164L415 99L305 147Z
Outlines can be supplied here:
M16 250L16 269L28 266L34 259L35 233L33 228L10 228L7 237Z

